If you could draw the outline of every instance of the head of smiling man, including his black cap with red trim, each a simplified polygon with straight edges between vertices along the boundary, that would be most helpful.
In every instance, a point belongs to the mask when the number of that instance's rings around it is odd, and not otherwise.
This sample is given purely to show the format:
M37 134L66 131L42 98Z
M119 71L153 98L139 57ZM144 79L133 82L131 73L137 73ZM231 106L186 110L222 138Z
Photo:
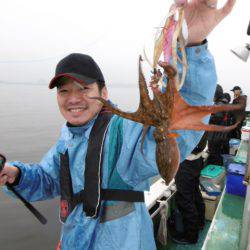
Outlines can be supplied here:
M55 86L60 112L72 125L84 125L100 112L102 104L91 97L108 98L102 72L88 55L75 53L61 60L49 88Z

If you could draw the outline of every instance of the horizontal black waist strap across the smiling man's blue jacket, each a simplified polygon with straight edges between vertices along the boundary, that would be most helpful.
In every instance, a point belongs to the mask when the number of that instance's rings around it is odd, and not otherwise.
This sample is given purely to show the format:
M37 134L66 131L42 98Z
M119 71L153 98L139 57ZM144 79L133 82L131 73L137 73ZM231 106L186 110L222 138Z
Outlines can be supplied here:
M121 189L101 189L101 200L105 201L128 201L128 202L144 202L144 192L134 190ZM85 203L86 193L82 190L74 195L72 201L74 204Z

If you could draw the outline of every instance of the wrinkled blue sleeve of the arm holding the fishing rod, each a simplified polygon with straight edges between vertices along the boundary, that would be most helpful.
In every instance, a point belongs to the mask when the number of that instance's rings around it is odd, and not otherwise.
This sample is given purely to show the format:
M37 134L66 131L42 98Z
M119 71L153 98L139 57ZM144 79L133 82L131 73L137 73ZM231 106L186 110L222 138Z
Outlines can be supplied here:
M39 164L20 161L8 164L21 170L21 178L15 189L28 201L52 199L59 195L59 158L56 147L51 148Z

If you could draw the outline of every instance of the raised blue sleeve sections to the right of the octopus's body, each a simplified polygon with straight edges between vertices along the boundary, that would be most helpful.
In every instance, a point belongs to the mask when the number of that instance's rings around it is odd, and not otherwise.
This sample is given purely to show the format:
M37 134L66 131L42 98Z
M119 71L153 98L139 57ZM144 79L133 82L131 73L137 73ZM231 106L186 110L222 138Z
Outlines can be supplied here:
M186 48L188 72L185 84L180 90L182 97L191 105L211 105L217 84L217 75L213 56L207 49L207 44ZM208 123L209 117L204 119ZM180 149L181 161L192 152L199 143L203 131L178 131L177 142Z

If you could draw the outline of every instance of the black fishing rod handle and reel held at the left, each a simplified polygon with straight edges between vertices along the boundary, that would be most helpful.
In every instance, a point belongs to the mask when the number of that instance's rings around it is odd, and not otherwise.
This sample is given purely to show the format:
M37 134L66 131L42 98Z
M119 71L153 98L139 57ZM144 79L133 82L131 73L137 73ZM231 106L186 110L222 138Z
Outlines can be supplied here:
M0 172L4 168L4 164L6 162L5 156L0 154ZM44 225L47 223L47 219L33 206L31 203L29 203L27 200L25 200L16 190L15 188L10 184L6 183L5 184L9 190L11 190L16 197L22 201L22 203L29 209L29 211Z

